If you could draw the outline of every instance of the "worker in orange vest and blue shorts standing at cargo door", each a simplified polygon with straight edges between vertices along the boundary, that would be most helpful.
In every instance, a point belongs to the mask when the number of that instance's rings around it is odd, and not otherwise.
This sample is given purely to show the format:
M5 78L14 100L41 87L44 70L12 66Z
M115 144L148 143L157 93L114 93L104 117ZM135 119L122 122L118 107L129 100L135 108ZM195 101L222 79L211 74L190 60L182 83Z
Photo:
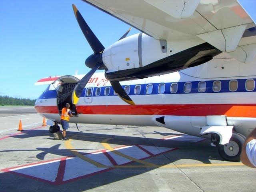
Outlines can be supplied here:
M69 118L72 117L72 111L69 109L70 108L70 104L66 103L66 107L62 108L61 110L61 118L60 118L60 122L61 122L61 126L63 128L63 138L62 140L68 140L67 136L66 136L66 130L69 128Z

